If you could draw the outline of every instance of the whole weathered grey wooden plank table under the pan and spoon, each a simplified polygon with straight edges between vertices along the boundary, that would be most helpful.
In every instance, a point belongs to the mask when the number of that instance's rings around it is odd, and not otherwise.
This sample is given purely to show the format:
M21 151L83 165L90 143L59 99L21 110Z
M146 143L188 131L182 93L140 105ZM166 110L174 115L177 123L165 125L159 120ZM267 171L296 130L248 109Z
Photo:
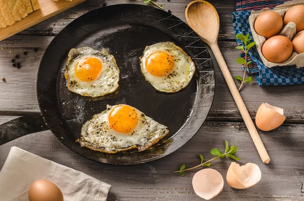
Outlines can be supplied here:
M108 0L87 2L69 9L53 18L22 31L0 42L0 124L20 115L38 113L36 99L36 73L41 58L56 34L73 19L90 10L106 5L134 3L142 0ZM185 21L185 6L189 0L159 0L165 10ZM235 11L234 0L210 1L220 18L219 47L233 76L242 74L235 61L238 52L232 27L231 13ZM37 52L33 49L38 48ZM210 49L209 49L210 51ZM23 52L28 52L27 56ZM20 55L21 68L12 66L11 60ZM285 123L270 132L259 131L267 148L271 162L262 164L243 123L238 108L225 84L214 57L216 90L211 111L195 137L176 152L144 165L111 166L93 162L73 153L50 132L40 132L24 136L0 146L0 168L5 163L12 146L40 155L56 163L82 171L112 185L108 200L202 200L194 193L192 177L196 171L185 177L172 171L185 163L188 167L200 163L198 153L206 159L211 158L212 148L223 149L223 140L239 148L238 156L242 165L256 163L261 171L261 181L249 189L237 190L224 185L223 191L214 200L304 200L304 86L258 87L253 78L246 84L241 95L251 114L262 102L284 108ZM254 75L253 75L254 76ZM239 83L237 83L239 85ZM223 178L232 162L231 159L217 159L212 168L218 170Z

